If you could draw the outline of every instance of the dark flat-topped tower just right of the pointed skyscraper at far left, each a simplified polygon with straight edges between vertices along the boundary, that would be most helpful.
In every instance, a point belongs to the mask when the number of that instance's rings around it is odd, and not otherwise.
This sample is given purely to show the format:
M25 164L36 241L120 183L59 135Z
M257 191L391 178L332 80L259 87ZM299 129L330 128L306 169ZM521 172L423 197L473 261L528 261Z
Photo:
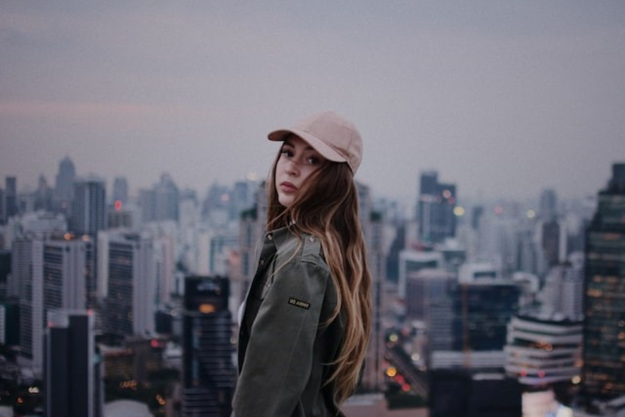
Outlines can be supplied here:
M69 229L76 234L95 236L106 229L106 183L103 179L88 177L74 181L74 199Z

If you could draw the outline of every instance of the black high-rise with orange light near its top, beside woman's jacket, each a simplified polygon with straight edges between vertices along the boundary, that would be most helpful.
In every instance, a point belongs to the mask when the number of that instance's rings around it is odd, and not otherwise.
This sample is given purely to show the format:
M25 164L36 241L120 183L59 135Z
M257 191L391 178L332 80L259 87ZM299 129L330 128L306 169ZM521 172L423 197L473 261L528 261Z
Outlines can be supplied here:
M236 370L226 277L185 279L182 417L231 414Z

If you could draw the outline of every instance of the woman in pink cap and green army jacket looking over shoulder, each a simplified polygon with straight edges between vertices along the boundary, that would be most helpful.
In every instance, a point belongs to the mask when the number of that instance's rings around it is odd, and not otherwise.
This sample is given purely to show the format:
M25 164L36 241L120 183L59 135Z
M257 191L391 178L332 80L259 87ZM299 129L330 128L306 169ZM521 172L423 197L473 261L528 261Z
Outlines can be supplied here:
M233 416L340 416L371 329L353 175L355 126L333 112L269 133L267 230L244 304Z

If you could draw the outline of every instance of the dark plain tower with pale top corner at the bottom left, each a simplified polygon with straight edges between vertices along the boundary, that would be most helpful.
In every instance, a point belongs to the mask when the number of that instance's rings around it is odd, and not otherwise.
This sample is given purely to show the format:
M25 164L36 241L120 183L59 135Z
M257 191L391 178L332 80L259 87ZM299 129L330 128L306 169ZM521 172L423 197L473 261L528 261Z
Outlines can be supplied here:
M45 334L46 416L101 416L94 377L92 316L86 311L49 311Z

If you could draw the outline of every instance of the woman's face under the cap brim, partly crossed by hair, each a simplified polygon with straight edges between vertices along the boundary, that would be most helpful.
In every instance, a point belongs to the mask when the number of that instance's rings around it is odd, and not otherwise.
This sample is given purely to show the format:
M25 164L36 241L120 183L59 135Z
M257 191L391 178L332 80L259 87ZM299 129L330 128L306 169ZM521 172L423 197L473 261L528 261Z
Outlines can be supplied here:
M276 163L278 202L285 207L290 207L303 182L310 174L319 170L324 163L326 163L326 158L299 136L290 136L285 140L280 158Z

